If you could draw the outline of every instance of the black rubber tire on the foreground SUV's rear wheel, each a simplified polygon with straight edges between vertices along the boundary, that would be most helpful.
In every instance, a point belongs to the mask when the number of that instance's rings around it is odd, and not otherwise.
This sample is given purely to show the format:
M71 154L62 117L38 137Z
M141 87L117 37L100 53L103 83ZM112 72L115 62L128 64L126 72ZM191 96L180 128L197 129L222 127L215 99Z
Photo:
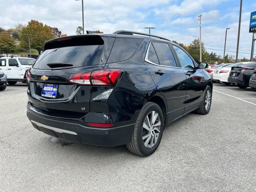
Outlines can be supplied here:
M158 137L157 137L158 139L156 141L156 144L154 144L154 146L152 145L152 148L147 148L145 146L146 144L144 144L144 141L142 140L142 135L145 131L145 129L143 128L143 124L144 124L146 117L148 115L150 115L152 111L155 111L158 113L159 120L161 122L161 125L159 125L159 127L158 127L158 129L160 130L160 133L158 134ZM153 102L146 102L146 104L140 110L138 118L135 122L134 132L132 134L131 141L128 144L126 144L126 147L128 148L128 150L130 152L132 152L136 155L144 156L144 157L149 156L152 153L154 153L156 151L156 149L158 148L158 146L161 142L161 139L162 139L163 130L164 130L164 116L162 114L162 110L161 110L160 106L158 106L156 103L153 103ZM151 133L152 133L152 131L151 131ZM148 135L150 135L150 138L152 137L152 135L150 134L150 131L148 132ZM147 139L144 139L144 140L147 140ZM150 140L150 142L151 142L151 140ZM152 143L153 143L153 141L152 141Z

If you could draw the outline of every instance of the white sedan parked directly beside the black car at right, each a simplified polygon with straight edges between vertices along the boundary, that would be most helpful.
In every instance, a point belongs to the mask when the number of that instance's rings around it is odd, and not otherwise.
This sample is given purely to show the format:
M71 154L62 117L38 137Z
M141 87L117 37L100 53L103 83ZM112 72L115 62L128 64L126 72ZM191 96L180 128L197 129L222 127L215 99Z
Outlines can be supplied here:
M215 72L213 74L213 80L217 81L217 82L222 82L226 85L230 85L231 83L228 82L228 76L231 71L231 68L234 66L238 66L241 64L247 64L247 63L250 63L250 62L233 63L233 64L229 64L228 66L225 66L225 67L216 68Z

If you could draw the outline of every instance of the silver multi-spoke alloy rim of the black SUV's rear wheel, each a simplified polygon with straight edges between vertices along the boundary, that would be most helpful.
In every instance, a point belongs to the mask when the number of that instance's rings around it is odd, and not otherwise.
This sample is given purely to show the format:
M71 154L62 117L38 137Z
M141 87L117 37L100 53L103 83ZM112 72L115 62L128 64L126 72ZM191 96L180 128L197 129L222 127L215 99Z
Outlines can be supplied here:
M145 118L142 129L142 140L146 148L152 148L160 135L161 120L156 111L151 111Z

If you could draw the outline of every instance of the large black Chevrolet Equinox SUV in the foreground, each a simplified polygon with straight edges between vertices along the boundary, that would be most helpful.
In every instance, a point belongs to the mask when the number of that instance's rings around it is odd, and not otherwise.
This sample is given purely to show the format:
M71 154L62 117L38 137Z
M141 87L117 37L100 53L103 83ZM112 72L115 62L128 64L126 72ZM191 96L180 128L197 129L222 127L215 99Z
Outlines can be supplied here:
M117 31L56 38L26 74L27 116L36 129L58 138L126 144L148 156L166 125L194 110L210 111L206 67L159 36Z

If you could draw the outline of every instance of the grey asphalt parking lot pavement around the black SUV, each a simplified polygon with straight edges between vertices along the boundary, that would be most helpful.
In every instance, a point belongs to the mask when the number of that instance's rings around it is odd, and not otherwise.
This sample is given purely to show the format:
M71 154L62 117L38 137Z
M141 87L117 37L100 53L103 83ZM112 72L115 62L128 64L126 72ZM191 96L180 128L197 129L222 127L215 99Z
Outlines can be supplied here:
M166 127L142 158L39 132L26 117L26 86L0 92L0 191L253 191L256 92L214 84L208 115Z

